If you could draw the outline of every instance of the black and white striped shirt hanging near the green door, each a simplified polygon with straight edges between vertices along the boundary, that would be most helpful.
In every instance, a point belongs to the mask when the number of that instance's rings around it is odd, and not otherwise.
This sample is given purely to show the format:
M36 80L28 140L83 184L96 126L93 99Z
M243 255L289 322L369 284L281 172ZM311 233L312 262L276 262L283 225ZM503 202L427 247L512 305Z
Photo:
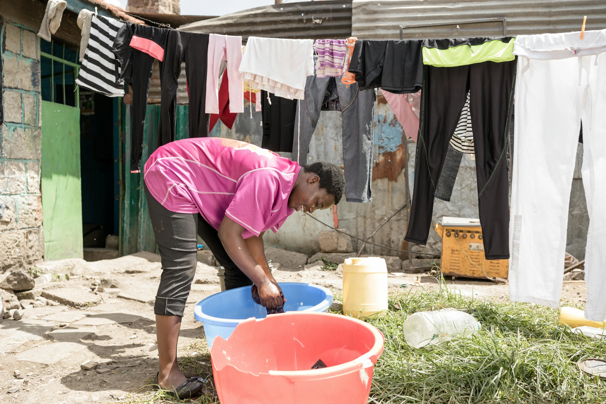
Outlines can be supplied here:
M120 67L112 51L116 33L122 25L122 21L93 15L90 39L76 79L78 85L109 97L124 95L124 85L118 83Z

